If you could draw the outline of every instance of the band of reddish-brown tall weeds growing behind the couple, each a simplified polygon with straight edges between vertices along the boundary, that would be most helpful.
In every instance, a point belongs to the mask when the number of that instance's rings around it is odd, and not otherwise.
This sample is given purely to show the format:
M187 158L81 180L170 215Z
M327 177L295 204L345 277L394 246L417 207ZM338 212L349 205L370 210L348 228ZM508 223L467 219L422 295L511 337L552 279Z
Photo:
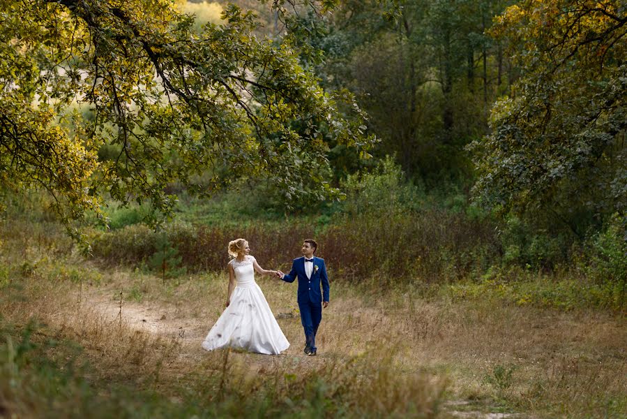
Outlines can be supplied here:
M383 221L383 222L382 222ZM258 224L248 228L173 224L169 241L192 271L224 269L229 240L244 237L259 263L289 266L300 256L302 241L319 242L336 277L351 281L377 274L395 283L442 282L465 278L496 262L499 247L489 223L464 214L428 212L341 216L316 234L307 224ZM93 255L107 263L139 264L156 251L156 234L144 226L98 233Z

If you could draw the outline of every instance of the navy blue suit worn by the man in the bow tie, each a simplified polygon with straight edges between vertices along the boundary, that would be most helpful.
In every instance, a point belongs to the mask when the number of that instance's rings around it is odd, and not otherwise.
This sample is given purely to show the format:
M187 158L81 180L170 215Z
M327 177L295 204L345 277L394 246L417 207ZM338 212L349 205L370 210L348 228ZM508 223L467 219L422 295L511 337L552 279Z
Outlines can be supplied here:
M294 282L299 279L299 291L297 301L301 311L301 323L305 329L307 345L316 350L316 332L322 321L322 302L328 302L328 276L324 259L313 258L311 277L307 277L305 271L305 258L296 258L292 262L292 270L285 274L282 280ZM322 285L322 294L320 286Z

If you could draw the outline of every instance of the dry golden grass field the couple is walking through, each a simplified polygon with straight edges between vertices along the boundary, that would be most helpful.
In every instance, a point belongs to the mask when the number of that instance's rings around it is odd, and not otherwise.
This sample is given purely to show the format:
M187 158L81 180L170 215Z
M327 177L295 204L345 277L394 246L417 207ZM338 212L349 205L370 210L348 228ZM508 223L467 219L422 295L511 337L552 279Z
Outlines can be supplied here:
M33 319L39 324L34 344L52 339L82 348L47 345L43 355L89 365L80 376L96 389L93 397L116 400L119 414L87 410L93 417L627 414L627 319L621 314L541 309L488 296L459 300L446 286L382 291L376 281L354 286L331 272L331 304L313 358L302 353L296 286L257 277L292 345L278 356L208 353L200 343L224 307L224 272L164 284L140 270L98 267L63 251L62 240L6 237L0 320L3 327L15 325L4 332L7 349L0 351L3 378L10 378L0 384L0 413L8 417L85 415L76 407L84 404L80 393L50 402L26 377L35 362L20 367L15 350L10 355ZM133 395L133 404L125 391L152 398ZM150 403L167 406L150 410Z

